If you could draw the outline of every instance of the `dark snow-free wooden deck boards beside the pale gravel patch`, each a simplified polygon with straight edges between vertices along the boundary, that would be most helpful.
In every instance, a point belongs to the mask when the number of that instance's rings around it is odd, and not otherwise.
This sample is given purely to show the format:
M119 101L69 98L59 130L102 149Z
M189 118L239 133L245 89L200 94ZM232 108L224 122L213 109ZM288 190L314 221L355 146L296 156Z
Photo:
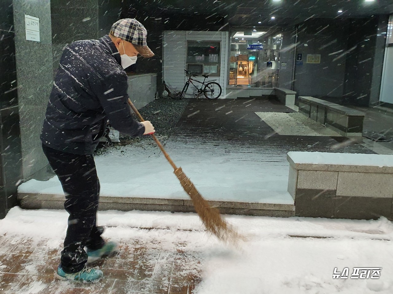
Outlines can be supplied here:
M255 114L293 111L273 99L190 99L167 145L177 141L187 148L188 142L198 142L201 149L206 149L219 148L225 142L231 147L252 149L249 153L263 153L266 155L263 161L269 162L286 162L289 151L373 153L342 136L279 135Z

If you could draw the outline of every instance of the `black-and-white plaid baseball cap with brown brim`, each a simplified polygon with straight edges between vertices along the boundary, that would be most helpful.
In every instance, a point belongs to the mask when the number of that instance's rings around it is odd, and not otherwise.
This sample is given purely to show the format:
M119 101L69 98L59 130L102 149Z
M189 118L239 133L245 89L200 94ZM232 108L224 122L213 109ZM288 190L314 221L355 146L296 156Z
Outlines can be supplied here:
M152 57L154 53L147 46L147 30L135 18L123 18L112 25L110 33L115 37L132 43L143 57Z

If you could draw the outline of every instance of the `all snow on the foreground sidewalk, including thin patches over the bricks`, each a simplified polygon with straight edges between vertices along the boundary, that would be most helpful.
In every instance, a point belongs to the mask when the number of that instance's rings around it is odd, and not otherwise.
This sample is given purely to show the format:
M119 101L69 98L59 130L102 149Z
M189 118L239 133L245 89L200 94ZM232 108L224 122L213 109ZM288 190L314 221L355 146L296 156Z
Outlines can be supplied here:
M5 287L1 281L4 272L9 270L7 265L0 265L0 289L7 289L4 293L75 293L67 292L72 287L69 283L52 281L50 274L43 280L38 278L42 273L37 271L39 265L42 269L41 261L49 252L60 249L67 216L65 211L12 208L6 218L0 220L0 255L12 253L12 248L23 240L30 240L29 248L33 248L22 267L22 273L33 277L29 283ZM244 216L227 216L226 219L247 238L239 248L222 244L207 235L193 213L99 212L99 224L108 226L105 237L116 239L123 245L143 243L144 253L138 258L152 267L149 270L140 267L138 260L134 260L138 259L136 255L130 253L128 262L136 262L139 272L145 275L150 272L150 276L142 276L136 281L135 277L124 272L123 283L117 284L118 280L111 279L112 272L108 268L109 277L105 283L112 283L112 286L85 286L83 290L87 292L83 293L393 292L393 246L390 241L393 224L387 219L355 221ZM129 247L129 252L135 249ZM180 263L187 264L187 269L176 270L175 256L179 252L187 256L187 261ZM127 256L127 251L123 251L108 261L127 261ZM173 266L163 266L168 263ZM379 279L351 279L355 267L382 270ZM334 268L340 272L348 268L349 277L333 279ZM190 274L197 279L187 283L195 283L195 288L182 290L178 283ZM156 288L157 277L160 278L159 290ZM143 283L143 289L140 283Z

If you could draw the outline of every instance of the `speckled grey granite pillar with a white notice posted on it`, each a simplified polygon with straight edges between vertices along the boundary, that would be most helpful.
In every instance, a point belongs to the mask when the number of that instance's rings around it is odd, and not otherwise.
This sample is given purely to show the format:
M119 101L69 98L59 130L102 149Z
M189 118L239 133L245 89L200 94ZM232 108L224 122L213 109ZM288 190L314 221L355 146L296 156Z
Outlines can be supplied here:
M41 149L40 132L53 85L50 0L14 0L13 13L22 178L43 180L48 177L48 161ZM39 18L39 41L26 40L25 15Z

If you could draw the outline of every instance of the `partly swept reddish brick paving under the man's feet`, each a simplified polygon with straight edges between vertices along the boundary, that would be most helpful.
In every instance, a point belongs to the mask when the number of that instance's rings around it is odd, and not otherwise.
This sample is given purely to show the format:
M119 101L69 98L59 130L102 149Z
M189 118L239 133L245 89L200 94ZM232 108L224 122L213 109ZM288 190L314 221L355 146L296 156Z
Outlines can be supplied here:
M182 243L173 252L165 251L160 241L120 243L116 255L92 265L103 270L104 278L89 285L54 278L61 244L48 250L44 241L37 246L31 240L13 244L12 238L0 238L2 294L191 294L201 281L200 256L183 250Z

